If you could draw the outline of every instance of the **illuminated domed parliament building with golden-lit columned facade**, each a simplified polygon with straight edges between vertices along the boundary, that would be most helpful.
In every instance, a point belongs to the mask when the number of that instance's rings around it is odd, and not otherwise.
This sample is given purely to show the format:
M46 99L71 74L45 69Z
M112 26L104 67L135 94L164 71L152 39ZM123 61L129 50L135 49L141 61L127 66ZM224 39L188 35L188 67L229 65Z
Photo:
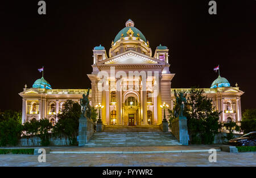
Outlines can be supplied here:
M145 36L128 20L125 28L115 36L109 57L103 46L93 49L93 72L90 104L104 105L101 119L105 125L159 125L163 119L165 102L174 107L174 89L171 81L169 49L159 45L152 57L152 50ZM43 80L42 80L43 79ZM43 87L42 87L43 86ZM175 89L189 91L189 89ZM228 80L218 77L204 94L213 99L213 105L222 111L220 121L241 121L241 95L239 88L230 86ZM22 121L48 118L57 122L56 114L66 100L79 102L86 89L51 89L41 78L33 88L19 93L23 98Z

